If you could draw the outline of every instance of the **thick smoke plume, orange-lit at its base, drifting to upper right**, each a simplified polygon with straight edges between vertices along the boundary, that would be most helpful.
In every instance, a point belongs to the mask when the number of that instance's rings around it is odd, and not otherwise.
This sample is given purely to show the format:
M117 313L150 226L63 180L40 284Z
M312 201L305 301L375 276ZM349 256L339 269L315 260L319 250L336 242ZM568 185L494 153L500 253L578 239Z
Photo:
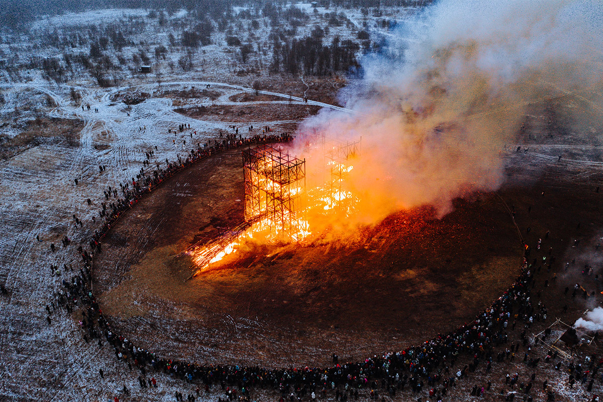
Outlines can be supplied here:
M601 108L598 2L444 0L405 27L341 93L356 114L324 110L302 129L362 137L346 181L360 200L355 223L422 204L445 213L456 196L497 189L531 102L571 92ZM320 181L316 166L308 174Z

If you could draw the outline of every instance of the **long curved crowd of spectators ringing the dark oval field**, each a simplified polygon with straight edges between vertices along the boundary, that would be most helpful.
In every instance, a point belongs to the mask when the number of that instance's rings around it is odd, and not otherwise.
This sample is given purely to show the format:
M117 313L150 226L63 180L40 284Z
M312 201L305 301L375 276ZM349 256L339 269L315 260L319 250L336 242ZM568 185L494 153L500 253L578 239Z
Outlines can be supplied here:
M286 134L252 137L250 139L223 140L215 145L192 149L186 159L178 157L177 163L166 161L164 168L157 166L153 172L140 169L136 179L131 183L121 184L121 189L111 189L105 192L107 200L115 201L103 203L100 212L104 216L104 224L100 230L95 231L90 240L90 253L80 246L84 268L79 275L73 275L71 280L63 280L63 289L58 292L55 302L46 306L49 316L51 307L65 308L68 312L81 309L79 324L83 330L84 341L98 342L103 347L107 342L115 352L116 359L122 361L130 369L140 371L139 383L141 388L157 386L153 372L165 372L174 377L182 378L188 383L203 385L205 392L209 393L212 386L219 386L223 396L220 400L234 399L248 400L250 390L253 388L273 388L280 392L280 401L300 401L303 398L314 401L317 397L326 397L327 393L335 394L335 400L346 402L349 399L358 400L359 390L374 400L385 400L385 395L394 397L396 392L408 389L413 393L423 391L429 395L429 400L442 401L446 398L451 387L455 387L458 380L467 377L476 371L479 366L484 366L490 371L494 362L510 359L513 361L520 344L526 352L523 362L527 366L537 367L540 359L529 355L530 345L526 329L534 321L546 320L546 307L540 301L532 301L532 288L535 284L535 265L529 263L531 250L525 247L523 265L519 275L502 296L497 298L488 309L485 309L473 322L462 325L449 333L438 334L420 345L405 348L404 350L381 356L368 357L361 362L342 363L333 355L333 365L326 368L282 368L265 369L261 367L242 367L238 365L198 365L190 362L169 359L169 357L156 356L151 351L136 347L131 339L116 333L101 311L95 295L90 290L92 257L101 249L101 240L119 219L125 210L130 209L146 193L159 186L167 178L181 169L192 165L199 160L206 159L216 152L230 149L247 143L262 143L288 141L291 136ZM118 197L119 195L119 197ZM539 247L538 247L539 249ZM535 262L534 262L535 263ZM550 264L550 262L549 262ZM70 265L71 266L71 265ZM55 305L56 304L56 305ZM50 318L48 319L50 324ZM524 325L517 342L509 339L509 331L514 330L516 324ZM543 338L546 337L546 333ZM536 340L538 342L538 339ZM504 351L499 347L504 346ZM551 351L545 360L554 362L556 353ZM453 369L456 360L463 358L466 365L459 365ZM519 360L519 359L518 359ZM596 374L603 359L592 357L586 367L567 366L570 373L569 382L573 385L576 381L588 382L592 389ZM555 362L556 368L561 367L561 362ZM462 367L461 367L462 366ZM101 376L103 372L101 371ZM601 374L603 380L603 373ZM523 400L531 400L530 390L534 385L534 376L531 379L519 378L519 374L507 376L508 386L518 386L522 392ZM491 383L475 385L471 389L473 396L483 396L489 392ZM543 383L546 388L546 382ZM590 391L589 389L589 391ZM125 392L125 391L124 391ZM200 388L197 386L197 395ZM500 390L502 395L504 392ZM503 395L506 400L513 400L516 392ZM553 400L552 391L548 391L549 400ZM177 400L183 400L183 395L176 393ZM195 395L189 394L188 400L194 400Z

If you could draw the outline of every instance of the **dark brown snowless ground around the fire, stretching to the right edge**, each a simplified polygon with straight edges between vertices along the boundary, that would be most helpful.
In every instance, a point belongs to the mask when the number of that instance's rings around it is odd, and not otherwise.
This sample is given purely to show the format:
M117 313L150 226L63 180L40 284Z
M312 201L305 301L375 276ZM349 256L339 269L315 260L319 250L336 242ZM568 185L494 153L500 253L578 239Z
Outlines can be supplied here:
M113 228L95 261L95 292L119 333L175 359L279 367L397 350L471 321L497 298L519 269L520 237L551 231L542 250L561 259L603 224L601 195L564 178L572 166L510 166L498 193L457 200L441 220L400 212L363 233L367 241L257 247L186 281L190 261L174 254L242 221L232 151L167 181ZM546 300L552 313L562 303Z

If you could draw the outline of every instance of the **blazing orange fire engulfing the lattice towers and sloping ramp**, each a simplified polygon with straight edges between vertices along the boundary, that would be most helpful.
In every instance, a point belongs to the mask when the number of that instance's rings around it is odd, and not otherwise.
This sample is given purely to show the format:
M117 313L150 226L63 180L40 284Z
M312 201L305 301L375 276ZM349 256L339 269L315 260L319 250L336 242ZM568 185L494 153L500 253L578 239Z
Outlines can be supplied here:
M274 150L270 148L269 152L274 154ZM306 189L305 170L292 178L291 166L298 168L295 165L298 159L288 159L288 165L280 165L280 156L275 162L275 159L265 158L264 154L257 157L257 153L251 155L249 166L252 167L245 165L245 224L189 250L186 254L192 256L197 272L236 253L252 240L305 242L324 230L312 225L314 219L334 213L345 218L353 213L356 199L350 190L345 189L346 176L354 168L350 154L335 160L331 151L331 158L325 164L328 177L324 183ZM297 209L292 207L294 204ZM309 220L308 216L313 219Z

